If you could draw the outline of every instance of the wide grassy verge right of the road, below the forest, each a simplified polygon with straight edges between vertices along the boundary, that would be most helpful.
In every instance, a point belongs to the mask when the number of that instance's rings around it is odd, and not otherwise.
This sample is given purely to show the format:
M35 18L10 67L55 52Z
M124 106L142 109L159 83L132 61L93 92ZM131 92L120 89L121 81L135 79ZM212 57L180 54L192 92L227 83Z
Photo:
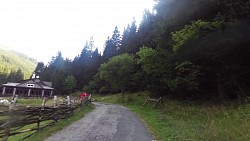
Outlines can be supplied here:
M94 96L97 101L129 107L146 122L159 141L250 140L250 105L196 104L164 99L165 107L143 106L148 93Z

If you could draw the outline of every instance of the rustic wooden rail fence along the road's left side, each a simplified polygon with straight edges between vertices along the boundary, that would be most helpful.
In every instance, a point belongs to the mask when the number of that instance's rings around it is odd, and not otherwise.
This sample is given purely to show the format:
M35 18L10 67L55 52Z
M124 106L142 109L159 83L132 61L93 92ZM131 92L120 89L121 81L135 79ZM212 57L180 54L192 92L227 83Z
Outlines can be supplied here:
M13 97L9 107L1 106L0 108L0 138L2 141L7 141L9 136L33 131L29 135L31 136L40 129L54 125L58 120L68 118L75 109L88 104L89 100L88 98L82 101L71 100L67 96L66 100L59 101L57 97L54 97L53 106L46 106L46 99L44 99L40 107L16 106L16 101L17 97Z

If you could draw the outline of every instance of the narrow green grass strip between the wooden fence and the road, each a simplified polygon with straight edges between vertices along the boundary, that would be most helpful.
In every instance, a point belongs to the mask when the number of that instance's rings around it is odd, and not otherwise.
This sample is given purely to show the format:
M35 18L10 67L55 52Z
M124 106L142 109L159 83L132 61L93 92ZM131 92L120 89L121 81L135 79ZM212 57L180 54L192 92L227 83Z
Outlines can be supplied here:
M31 137L25 139L24 141L43 141L47 137L49 137L49 136L53 135L54 133L56 133L57 131L60 131L63 128L65 128L65 127L69 126L70 124L72 124L73 122L83 118L86 113L90 112L93 109L94 109L93 104L89 104L88 106L79 108L76 111L74 111L74 114L71 117L69 117L68 119L61 120L61 121L55 123L55 125L53 125L53 126L44 128L44 129L38 131L37 133L35 133L34 135L32 135ZM45 124L45 123L42 123L42 124ZM29 125L26 128L31 128L31 127L34 127L34 126L36 126L36 124ZM11 137L9 137L8 141L20 140L20 139L26 137L27 135L29 135L31 133L32 132L28 132L28 133L18 134L16 136L11 136Z

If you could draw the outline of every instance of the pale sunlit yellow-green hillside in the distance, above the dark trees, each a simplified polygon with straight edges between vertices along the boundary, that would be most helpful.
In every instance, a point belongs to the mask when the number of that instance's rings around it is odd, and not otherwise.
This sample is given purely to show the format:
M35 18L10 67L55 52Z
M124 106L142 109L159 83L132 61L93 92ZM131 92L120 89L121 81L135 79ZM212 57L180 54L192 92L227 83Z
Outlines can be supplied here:
M0 74L7 77L10 72L21 70L24 79L29 78L36 67L36 60L0 45ZM1 82L3 81L1 77Z

